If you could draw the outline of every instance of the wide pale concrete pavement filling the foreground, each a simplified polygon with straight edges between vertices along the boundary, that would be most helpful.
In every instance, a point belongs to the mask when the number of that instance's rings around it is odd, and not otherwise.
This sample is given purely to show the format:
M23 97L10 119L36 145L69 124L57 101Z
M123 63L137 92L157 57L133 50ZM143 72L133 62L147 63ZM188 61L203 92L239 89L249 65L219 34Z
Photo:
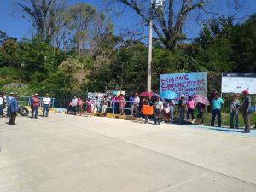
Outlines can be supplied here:
M52 114L0 119L1 192L255 192L256 138Z

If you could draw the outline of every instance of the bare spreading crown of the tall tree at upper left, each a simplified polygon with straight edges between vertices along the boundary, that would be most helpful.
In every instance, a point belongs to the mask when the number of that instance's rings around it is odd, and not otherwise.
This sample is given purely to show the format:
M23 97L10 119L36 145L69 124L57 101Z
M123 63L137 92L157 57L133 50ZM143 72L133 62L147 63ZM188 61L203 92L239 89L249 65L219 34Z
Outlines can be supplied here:
M56 20L61 15L66 0L17 0L22 17L26 18L39 37L51 39L56 32Z

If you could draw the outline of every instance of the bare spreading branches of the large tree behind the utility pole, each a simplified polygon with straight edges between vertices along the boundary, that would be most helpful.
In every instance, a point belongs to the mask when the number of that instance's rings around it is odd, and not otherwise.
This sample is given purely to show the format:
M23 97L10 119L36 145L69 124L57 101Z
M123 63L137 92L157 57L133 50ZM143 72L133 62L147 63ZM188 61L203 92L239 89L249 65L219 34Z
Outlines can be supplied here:
M111 1L111 0L110 0ZM113 3L119 2L125 5L125 10L133 10L139 15L143 22L149 24L149 9L148 2L145 0L113 0ZM223 1L206 1L206 0L166 0L163 9L158 9L155 12L155 20L153 29L160 41L165 45L166 49L172 52L177 49L179 41L185 40L184 26L187 20L200 21L204 18L202 15L218 15L214 10L214 3L223 3ZM234 7L234 13L230 13L233 18L242 9L243 0L226 1L229 4L228 8ZM209 5L207 7L207 5ZM113 6L113 5L112 5ZM129 8L129 9L126 9ZM200 14L203 13L203 14ZM194 15L194 16L192 16ZM140 25L141 26L141 25ZM144 33L144 32L142 32Z

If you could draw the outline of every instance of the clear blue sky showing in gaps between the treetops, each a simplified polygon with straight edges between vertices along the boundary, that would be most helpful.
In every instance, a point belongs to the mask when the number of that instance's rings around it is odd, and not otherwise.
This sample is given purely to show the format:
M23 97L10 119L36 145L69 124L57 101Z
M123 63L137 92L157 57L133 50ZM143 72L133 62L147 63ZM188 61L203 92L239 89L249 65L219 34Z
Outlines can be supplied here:
M0 0L0 30L6 32L9 37L13 38L24 38L31 37L32 26L25 19L20 18L19 15L15 15L14 2L15 0ZM105 0L106 1L106 0ZM241 15L252 15L256 13L256 0L244 0L247 2L247 7L241 12ZM97 9L103 9L102 0L68 0L69 4L84 2L90 3ZM149 0L148 0L149 3ZM222 8L224 12L228 10L224 7ZM137 23L137 16L134 13L126 13L122 17L116 18L111 17L111 21L114 24L114 33L119 35L125 31L125 28L133 27ZM189 38L195 37L200 31L200 26L195 24L187 24L187 33L189 33ZM147 34L148 30L145 30Z

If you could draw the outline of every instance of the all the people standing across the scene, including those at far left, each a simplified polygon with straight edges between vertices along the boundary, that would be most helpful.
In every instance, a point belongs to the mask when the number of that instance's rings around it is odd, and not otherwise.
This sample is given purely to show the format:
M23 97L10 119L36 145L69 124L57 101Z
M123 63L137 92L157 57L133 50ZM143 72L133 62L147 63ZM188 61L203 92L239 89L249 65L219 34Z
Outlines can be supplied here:
M239 98L242 98L240 102ZM225 103L217 91L212 92L212 97L209 99L211 104L212 120L211 126L215 125L216 117L218 119L218 127L222 126L222 110ZM29 98L31 108L31 118L38 119L38 108L43 107L42 117L49 116L49 107L51 105L51 98L49 94L44 97L38 97L38 94L30 96ZM13 92L9 96L4 96L0 93L0 116L3 116L3 109L7 108L7 117L9 117L9 125L15 125L15 118L19 111L17 95ZM195 100L189 96L180 96L177 105L173 99L162 99L160 96L139 96L135 93L133 96L125 96L120 94L103 95L101 98L89 97L83 100L81 96L73 96L73 99L68 103L67 113L80 116L82 112L86 112L89 116L92 113L102 113L105 117L107 113L119 113L120 115L131 114L137 118L144 118L145 123L148 120L154 120L155 125L160 125L161 121L165 123L174 122L174 110L177 108L176 122L179 124L195 123L195 119L200 119L200 125L205 124L206 105ZM198 114L195 118L195 109ZM250 117L255 110L252 105L252 98L249 96L248 90L242 91L242 95L233 94L230 99L230 128L239 128L239 111L241 110L244 119L245 129L244 133L250 132ZM148 112L147 112L148 111Z

